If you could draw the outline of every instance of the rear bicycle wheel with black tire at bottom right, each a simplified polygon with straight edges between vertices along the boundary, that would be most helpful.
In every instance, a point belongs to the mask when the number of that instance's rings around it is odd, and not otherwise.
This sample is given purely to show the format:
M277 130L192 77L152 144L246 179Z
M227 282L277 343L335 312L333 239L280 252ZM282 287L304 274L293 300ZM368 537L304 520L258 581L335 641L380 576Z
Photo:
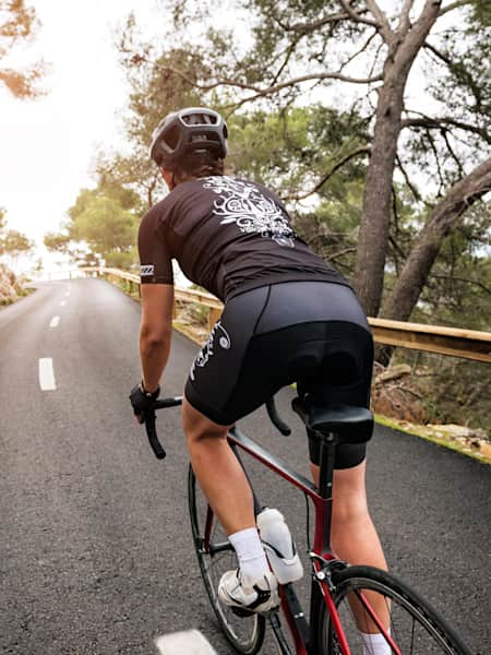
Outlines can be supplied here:
M347 567L333 572L333 599L351 653L362 652L362 639L355 623L351 605L360 602L360 594L373 605L374 594L384 596L391 617L391 638L404 655L471 655L457 633L439 615L433 606L404 582L372 567ZM361 600L363 603L363 600ZM318 655L342 653L324 599L319 597L316 607L316 634L313 652ZM319 612L319 614L318 614ZM364 611L367 627L363 632L374 631L374 622ZM368 626L370 621L371 626ZM396 653L394 648L391 653Z

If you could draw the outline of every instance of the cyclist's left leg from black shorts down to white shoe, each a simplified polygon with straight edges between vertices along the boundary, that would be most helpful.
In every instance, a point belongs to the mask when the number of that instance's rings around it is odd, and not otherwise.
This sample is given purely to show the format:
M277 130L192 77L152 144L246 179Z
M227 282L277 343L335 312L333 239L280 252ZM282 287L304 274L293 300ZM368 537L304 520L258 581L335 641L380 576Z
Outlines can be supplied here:
M183 404L194 474L239 560L239 570L221 577L218 595L225 604L256 611L267 611L279 604L277 582L259 537L251 488L226 434L228 427L267 397L249 398L248 390L242 389L241 395L249 405L229 405L267 296L267 288L259 288L226 305L194 360Z

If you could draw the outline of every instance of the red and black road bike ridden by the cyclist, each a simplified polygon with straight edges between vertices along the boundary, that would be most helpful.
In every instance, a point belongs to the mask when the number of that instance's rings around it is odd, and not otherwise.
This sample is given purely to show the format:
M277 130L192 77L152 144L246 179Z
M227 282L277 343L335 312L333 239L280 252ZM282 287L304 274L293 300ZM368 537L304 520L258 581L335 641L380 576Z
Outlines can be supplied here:
M154 409L181 403L180 396L160 398ZM278 416L273 398L266 408L276 428L289 434L290 428ZM239 617L220 603L218 581L225 571L236 569L238 562L192 467L189 469L188 501L194 549L209 602L233 650L243 655L259 653L268 623L280 655L360 655L363 653L362 633L380 635L376 639L385 642L387 653L395 655L470 655L453 628L406 583L373 567L350 565L338 559L331 548L335 448L338 443L368 441L373 430L371 412L346 405L320 407L300 398L292 401L292 408L320 441L319 488L237 427L229 430L228 442L246 474L239 450L302 491L313 504L314 535L308 552L312 577L309 618L292 583L279 586L280 610L267 616ZM147 413L146 431L155 455L164 458L166 453L157 438L155 419L155 410ZM248 479L250 481L249 476ZM254 490L253 498L258 515L263 505ZM307 508L309 520L309 503ZM370 653L370 650L364 652Z

